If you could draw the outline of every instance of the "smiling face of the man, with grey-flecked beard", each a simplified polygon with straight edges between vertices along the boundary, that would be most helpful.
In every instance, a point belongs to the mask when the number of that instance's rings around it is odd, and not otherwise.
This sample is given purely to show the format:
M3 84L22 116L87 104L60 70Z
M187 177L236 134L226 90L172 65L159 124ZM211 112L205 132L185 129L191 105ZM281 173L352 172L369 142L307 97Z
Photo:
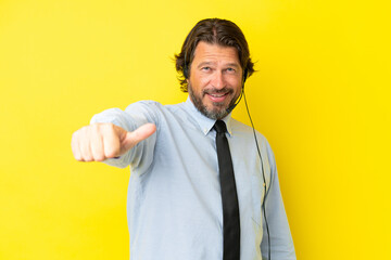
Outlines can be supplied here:
M188 79L194 106L209 118L222 119L239 98L241 87L238 51L234 47L199 42Z

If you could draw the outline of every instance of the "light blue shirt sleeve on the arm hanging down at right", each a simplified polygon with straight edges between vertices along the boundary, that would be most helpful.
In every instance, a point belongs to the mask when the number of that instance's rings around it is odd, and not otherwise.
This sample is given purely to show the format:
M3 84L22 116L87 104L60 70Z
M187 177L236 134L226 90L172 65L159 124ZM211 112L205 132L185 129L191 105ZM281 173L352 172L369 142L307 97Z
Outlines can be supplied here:
M262 258L268 259L268 235L270 235L270 257L273 260L295 260L293 239L290 233L287 213L278 182L277 167L273 151L266 141L267 157L270 166L270 182L265 197L266 219L263 214Z

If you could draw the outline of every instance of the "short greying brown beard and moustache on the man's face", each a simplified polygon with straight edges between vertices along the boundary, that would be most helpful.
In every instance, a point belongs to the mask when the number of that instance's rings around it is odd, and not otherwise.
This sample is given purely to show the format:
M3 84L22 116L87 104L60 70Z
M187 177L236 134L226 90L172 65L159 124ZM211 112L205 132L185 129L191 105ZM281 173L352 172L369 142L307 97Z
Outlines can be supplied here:
M225 105L224 102L213 102L213 108L210 109L206 107L206 105L202 102L202 98L207 94L207 93L232 93L234 91L231 89L220 89L220 90L216 90L216 89L207 89L207 90L203 90L202 93L200 95L195 94L192 91L191 84L190 82L188 83L188 91L189 91L189 95L191 101L193 102L195 108L201 112L202 115L204 115L207 118L217 120L217 119L222 119L224 117L226 117L230 112L227 112L227 109L231 106L235 105L235 102L238 100L239 96L234 98L229 104Z

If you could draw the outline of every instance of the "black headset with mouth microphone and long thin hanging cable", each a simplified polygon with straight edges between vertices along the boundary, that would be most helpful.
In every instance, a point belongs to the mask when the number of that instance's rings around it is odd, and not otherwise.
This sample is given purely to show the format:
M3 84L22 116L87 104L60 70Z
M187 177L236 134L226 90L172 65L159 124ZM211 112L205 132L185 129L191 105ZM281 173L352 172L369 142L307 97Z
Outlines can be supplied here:
M189 36L191 35L192 31L190 31ZM188 68L188 65L186 63L186 55L187 55L187 52L185 52L185 61L184 61L184 66L182 66L182 74L184 74L184 77L186 79L189 78L189 68ZM267 193L267 186L266 186L266 178L265 178L265 168L264 168L264 164L263 164L263 158L262 158L262 155L261 155L261 150L260 150L260 145L258 145L258 141L257 141L257 138L256 138L256 132L255 132L255 127L254 127L254 123L252 121L252 118L251 118L251 115L250 115L250 109L249 109L249 106L248 106L248 103L247 103L247 99L245 99L245 93L244 93L244 82L245 80L248 79L248 69L245 68L244 72L243 72L243 77L242 77L242 87L241 87L241 91L240 91L240 95L238 98L238 101L235 102L234 105L229 106L226 112L227 114L231 113L234 110L234 108L239 104L239 102L241 101L241 98L244 96L244 104L245 104L245 109L247 109L247 113L248 113L248 116L249 116L249 119L250 119L250 122L251 122L251 127L252 127L252 130L253 130L253 134L254 134L254 141L255 141L255 144L256 144L256 151L257 151L257 154L260 156L260 159L261 159L261 165L262 165L262 177L263 177L263 187L264 187L264 202L262 204L262 210L263 210L263 213L264 213L264 218L265 218L265 225L266 225L266 233L267 233L267 245L268 245L268 259L272 260L272 256L270 256L270 233L269 233L269 227L268 227L268 223L267 223L267 218L266 218L266 209L265 209L265 200L266 200L266 193Z

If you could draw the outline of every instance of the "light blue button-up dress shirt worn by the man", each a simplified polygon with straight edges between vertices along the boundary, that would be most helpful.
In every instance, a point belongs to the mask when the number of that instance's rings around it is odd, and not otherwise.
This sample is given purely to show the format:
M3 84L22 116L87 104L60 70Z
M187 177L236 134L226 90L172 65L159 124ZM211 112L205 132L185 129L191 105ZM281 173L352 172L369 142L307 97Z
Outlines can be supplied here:
M273 260L295 259L292 237L278 184L276 162L266 139L257 134L262 165L252 128L224 118L237 183L241 243L240 259L267 259L265 203ZM203 116L190 99L163 106L153 101L108 109L91 122L112 122L133 131L146 122L156 132L118 159L130 165L127 218L131 260L222 260L223 208L213 130L215 120ZM265 198L265 200L264 200Z

